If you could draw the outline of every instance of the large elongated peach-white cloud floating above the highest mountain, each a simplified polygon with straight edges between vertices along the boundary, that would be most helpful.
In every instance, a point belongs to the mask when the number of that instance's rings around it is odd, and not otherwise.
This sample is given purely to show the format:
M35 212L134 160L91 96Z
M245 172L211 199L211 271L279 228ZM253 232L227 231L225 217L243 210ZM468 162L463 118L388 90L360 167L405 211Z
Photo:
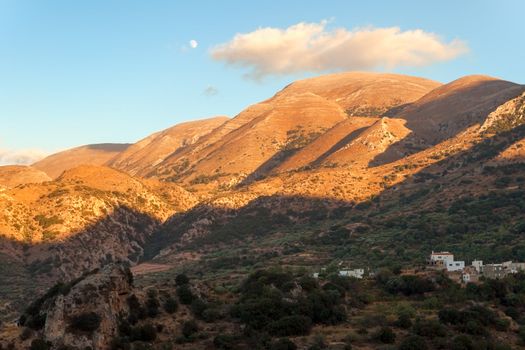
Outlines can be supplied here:
M468 51L460 40L443 41L421 29L398 27L338 28L327 21L298 23L285 29L259 28L236 34L211 50L217 61L249 68L248 77L303 71L393 69L424 66L456 58Z

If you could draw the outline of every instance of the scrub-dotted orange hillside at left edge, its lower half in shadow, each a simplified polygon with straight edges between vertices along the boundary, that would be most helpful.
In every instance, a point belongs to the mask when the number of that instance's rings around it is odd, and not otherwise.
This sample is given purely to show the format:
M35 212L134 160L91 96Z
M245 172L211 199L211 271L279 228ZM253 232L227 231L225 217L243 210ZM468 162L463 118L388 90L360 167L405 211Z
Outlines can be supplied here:
M95 166L0 196L0 282L10 286L0 288L6 315L54 281L114 261L137 263L148 236L196 203L175 184Z

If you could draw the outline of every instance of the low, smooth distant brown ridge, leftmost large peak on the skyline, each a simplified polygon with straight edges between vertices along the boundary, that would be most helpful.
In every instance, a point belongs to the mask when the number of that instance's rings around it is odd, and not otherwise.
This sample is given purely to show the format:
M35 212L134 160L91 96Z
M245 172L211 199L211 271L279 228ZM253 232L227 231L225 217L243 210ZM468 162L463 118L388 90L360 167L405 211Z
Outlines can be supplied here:
M101 143L85 145L52 154L32 166L42 170L51 178L57 178L65 170L79 165L104 165L130 145Z

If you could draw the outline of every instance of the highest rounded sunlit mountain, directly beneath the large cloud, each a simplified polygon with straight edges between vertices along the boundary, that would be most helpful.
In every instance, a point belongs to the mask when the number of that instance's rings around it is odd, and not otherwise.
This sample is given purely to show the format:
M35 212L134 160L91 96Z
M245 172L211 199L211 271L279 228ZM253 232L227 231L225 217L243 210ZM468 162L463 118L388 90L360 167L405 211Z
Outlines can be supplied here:
M292 83L269 100L160 163L152 175L208 187L267 175L340 122L379 117L413 102L440 83L394 74L343 73ZM242 152L239 152L242 150Z

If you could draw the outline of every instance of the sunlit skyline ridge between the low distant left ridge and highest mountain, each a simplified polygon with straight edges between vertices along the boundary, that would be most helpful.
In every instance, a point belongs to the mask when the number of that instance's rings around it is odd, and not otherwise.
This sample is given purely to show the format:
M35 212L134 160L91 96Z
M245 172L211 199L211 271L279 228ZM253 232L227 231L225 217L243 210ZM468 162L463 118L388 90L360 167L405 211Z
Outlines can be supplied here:
M228 117L215 117L177 124L134 143L106 164L131 175L147 176L157 164L224 124Z

